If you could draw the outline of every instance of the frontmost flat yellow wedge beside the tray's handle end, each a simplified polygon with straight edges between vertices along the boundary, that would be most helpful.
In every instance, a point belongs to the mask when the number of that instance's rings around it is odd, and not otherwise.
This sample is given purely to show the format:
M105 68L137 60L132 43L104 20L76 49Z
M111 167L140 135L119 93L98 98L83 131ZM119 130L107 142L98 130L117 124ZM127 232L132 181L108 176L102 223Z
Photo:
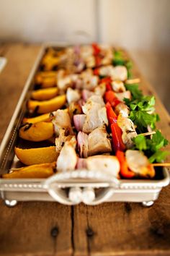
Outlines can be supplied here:
M9 174L3 174L4 179L42 179L55 173L56 163L34 164L32 166L14 169Z

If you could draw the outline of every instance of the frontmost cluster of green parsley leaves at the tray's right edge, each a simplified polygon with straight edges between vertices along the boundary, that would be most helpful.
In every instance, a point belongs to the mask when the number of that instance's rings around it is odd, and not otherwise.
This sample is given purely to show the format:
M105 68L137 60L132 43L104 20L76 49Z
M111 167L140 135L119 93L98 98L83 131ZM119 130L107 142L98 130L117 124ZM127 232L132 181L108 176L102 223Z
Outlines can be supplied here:
M153 162L161 162L163 161L167 155L169 155L168 151L161 151L160 149L169 144L168 140L164 138L160 131L156 131L156 133L152 136L151 139L147 139L143 135L138 135L133 138L134 148L140 151L143 151L145 155L148 156L149 161Z

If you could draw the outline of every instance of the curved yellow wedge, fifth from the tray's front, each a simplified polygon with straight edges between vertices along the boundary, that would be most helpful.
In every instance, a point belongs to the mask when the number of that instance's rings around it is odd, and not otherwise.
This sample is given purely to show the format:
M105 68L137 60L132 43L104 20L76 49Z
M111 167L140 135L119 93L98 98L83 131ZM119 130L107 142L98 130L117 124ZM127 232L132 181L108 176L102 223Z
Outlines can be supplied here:
M28 101L28 109L30 112L37 110L39 114L56 111L66 103L66 95L59 95L48 101Z

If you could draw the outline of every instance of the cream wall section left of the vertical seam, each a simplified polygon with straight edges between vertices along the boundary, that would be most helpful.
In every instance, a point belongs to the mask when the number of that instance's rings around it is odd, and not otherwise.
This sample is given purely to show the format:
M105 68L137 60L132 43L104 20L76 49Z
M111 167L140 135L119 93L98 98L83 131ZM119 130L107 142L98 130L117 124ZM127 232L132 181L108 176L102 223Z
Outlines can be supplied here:
M94 21L92 0L0 0L1 40L95 40Z

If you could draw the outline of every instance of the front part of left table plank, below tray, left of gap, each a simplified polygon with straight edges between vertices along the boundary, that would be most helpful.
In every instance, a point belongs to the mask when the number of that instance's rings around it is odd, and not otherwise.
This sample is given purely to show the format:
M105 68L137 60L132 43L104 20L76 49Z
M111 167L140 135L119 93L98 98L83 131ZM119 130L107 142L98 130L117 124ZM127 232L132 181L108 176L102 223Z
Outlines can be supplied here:
M71 255L71 208L56 202L0 201L0 255Z

